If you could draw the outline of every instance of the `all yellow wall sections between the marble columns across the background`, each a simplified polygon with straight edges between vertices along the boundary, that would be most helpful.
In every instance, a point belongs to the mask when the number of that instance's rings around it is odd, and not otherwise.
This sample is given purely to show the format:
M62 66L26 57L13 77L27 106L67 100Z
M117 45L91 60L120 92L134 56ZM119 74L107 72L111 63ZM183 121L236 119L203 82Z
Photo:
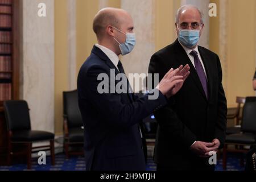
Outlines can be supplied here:
M92 30L92 20L99 10L100 1L105 5L121 7L120 0L96 0L76 2L76 75L89 56L93 44L97 42ZM129 0L127 0L129 1ZM221 60L224 72L224 87L228 98L228 106L235 105L236 96L254 95L251 87L251 78L255 71L256 53L256 2L254 0L224 0L226 16L226 59ZM217 17L210 18L209 48L220 55L220 39L222 38L220 26L220 0L211 0L217 3ZM126 2L127 3L127 2ZM154 1L154 27L155 51L167 46L176 39L174 21L180 0ZM208 7L207 7L208 9ZM134 17L136 18L136 17ZM62 92L68 89L68 21L67 0L55 0L55 132L62 132L63 101ZM149 60L148 60L149 61ZM129 65L128 65L129 67ZM130 69L130 68L127 68ZM142 71L144 68L141 68Z

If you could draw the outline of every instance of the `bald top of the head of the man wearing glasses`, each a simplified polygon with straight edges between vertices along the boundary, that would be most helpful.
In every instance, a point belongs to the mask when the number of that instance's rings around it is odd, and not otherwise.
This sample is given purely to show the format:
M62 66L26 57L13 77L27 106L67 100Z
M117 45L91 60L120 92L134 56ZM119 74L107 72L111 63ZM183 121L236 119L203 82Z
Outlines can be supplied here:
M177 10L175 23L180 22L180 16L189 14L189 16L197 16L200 18L201 23L203 22L203 13L194 5L184 5Z

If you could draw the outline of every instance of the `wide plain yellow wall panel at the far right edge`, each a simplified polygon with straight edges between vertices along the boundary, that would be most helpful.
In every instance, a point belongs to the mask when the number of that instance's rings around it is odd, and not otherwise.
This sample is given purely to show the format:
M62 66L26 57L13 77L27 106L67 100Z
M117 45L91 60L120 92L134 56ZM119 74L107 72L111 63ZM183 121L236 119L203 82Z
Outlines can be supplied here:
M254 96L251 81L255 71L256 2L229 1L228 6L228 105L236 96ZM241 22L241 25L239 25Z

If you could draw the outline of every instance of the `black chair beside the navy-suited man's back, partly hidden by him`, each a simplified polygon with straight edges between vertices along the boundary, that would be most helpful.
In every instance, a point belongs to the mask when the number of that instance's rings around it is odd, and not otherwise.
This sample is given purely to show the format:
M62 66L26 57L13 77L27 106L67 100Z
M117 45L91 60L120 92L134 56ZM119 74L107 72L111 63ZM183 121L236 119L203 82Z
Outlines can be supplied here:
M63 92L63 133L65 155L83 155L83 150L70 151L71 147L82 148L84 144L84 129L78 104L77 90Z

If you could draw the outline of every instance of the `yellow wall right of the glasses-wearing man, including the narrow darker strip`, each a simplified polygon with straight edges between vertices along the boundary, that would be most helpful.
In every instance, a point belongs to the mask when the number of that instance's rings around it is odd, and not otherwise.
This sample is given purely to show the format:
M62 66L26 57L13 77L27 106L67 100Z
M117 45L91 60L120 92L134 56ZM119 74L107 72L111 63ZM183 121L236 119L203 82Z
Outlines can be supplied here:
M255 71L256 2L254 0L224 1L222 3L220 0L211 1L217 4L217 17L210 18L209 43L212 51L224 57L221 60L223 85L228 107L234 107L236 96L245 97L255 94L251 80ZM225 10L221 5L225 5ZM220 19L220 13L225 13L221 16L222 19ZM221 26L220 21L225 24ZM241 26L238 22L241 22ZM226 46L221 46L221 41L225 42ZM224 50L220 50L220 47Z

